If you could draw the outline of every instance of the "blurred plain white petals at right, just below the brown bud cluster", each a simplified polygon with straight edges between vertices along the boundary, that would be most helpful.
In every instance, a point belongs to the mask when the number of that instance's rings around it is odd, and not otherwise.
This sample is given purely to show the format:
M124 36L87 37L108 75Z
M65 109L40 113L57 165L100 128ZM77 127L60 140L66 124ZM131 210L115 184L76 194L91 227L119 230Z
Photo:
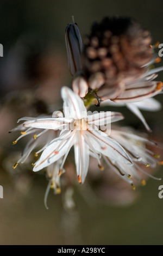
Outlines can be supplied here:
M155 100L154 98L145 99L142 101L137 102L131 102L131 103L117 103L111 100L104 100L101 102L101 106L114 106L114 107L123 107L126 106L128 109L130 109L131 112L133 112L145 125L146 129L148 131L151 131L149 125L146 122L146 119L143 117L140 109L145 111L159 111L161 109L161 103L158 100Z

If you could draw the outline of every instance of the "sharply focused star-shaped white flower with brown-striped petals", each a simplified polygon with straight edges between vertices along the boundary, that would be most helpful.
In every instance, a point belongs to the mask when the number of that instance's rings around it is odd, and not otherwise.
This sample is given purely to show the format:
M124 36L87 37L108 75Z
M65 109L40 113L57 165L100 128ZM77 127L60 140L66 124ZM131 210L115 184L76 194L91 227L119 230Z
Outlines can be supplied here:
M132 165L131 158L123 147L114 139L106 136L99 130L99 126L123 119L118 112L102 112L87 114L84 102L68 87L61 89L61 97L64 100L64 117L60 114L58 118L21 118L26 120L23 123L24 129L61 130L59 137L52 139L43 147L40 159L34 164L34 172L41 170L50 164L62 159L59 172L64 168L67 155L74 146L74 156L79 182L84 182L89 168L90 155L95 157L99 168L101 155L111 160Z

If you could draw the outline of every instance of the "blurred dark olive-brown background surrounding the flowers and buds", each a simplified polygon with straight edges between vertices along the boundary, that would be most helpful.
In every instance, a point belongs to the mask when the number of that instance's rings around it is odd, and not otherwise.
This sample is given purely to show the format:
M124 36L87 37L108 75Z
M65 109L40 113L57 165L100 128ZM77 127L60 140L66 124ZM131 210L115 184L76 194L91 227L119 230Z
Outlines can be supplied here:
M22 116L61 108L60 88L71 86L72 80L65 47L65 27L72 22L72 15L82 36L89 33L92 22L106 15L134 17L151 32L155 44L163 43L162 14L161 0L1 0L1 245L162 245L163 199L158 197L158 187L163 180L148 179L145 187L133 191L121 181L115 184L112 174L102 173L104 182L102 175L93 173L92 163L84 185L74 181L73 191L49 192L47 210L43 204L48 182L45 174L33 173L28 162L12 168L27 140L11 145L18 135L8 134ZM156 64L160 65L162 60ZM158 80L163 80L163 72ZM155 98L163 103L162 95ZM125 115L122 124L145 131L127 109L114 111ZM143 114L153 129L152 137L162 142L163 110ZM72 175L71 164L69 169ZM162 168L156 171L154 175L163 178ZM76 179L74 172L72 176ZM70 198L71 206L66 205L65 197Z

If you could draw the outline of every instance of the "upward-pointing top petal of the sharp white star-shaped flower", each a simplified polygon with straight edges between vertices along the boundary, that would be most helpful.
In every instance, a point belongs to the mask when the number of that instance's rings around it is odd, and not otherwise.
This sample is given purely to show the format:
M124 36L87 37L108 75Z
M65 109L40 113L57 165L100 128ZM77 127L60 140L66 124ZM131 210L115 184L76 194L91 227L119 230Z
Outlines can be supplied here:
M86 118L87 112L83 100L68 87L61 88L61 97L64 100L64 113L66 118Z

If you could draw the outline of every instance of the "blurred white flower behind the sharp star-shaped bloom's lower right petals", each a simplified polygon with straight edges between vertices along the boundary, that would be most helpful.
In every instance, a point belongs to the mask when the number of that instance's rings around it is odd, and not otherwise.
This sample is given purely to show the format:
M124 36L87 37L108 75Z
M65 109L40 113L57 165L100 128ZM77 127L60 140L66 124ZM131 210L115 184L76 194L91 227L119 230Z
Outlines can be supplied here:
M140 172L145 173L147 176L150 176L153 179L161 180L155 178L149 172L146 172L146 168L149 166L156 168L158 163L159 155L153 153L149 150L147 146L156 147L156 143L150 141L144 136L144 134L137 135L133 130L128 127L111 129L110 137L115 139L122 147L127 151L131 160L133 161L133 166L127 166L124 163L118 163L115 160L110 160L108 157L104 156L105 162L109 167L115 170L115 172L128 183L130 183L134 190L135 186L133 185L133 178L142 182L142 185L145 185L145 180L141 179Z

